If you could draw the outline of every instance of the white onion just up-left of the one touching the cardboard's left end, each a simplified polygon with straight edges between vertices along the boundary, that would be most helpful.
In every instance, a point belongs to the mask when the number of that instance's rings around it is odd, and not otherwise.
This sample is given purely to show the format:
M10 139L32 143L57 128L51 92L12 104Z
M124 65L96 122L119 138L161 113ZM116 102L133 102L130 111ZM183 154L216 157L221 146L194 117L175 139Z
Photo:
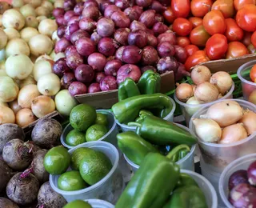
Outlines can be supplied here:
M38 90L41 94L53 96L61 89L61 80L56 74L44 74L38 79Z

